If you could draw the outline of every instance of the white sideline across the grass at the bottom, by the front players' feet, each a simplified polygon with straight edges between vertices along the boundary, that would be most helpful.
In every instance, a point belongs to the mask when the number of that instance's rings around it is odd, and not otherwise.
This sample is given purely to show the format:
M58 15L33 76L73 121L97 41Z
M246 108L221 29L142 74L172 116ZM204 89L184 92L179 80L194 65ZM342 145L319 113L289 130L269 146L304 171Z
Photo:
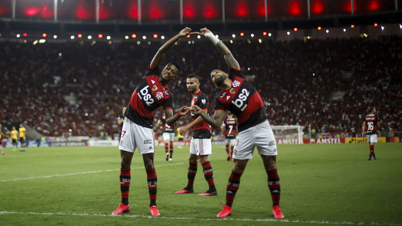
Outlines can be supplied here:
M353 222L330 222L330 221L317 221L317 220L277 220L270 218L187 218L187 217L166 217L166 216L142 216L142 215L125 215L113 216L111 214L101 213L36 213L36 212L16 212L16 211L0 211L2 214L31 214L31 215L44 215L44 216L105 216L105 217L122 217L122 218L162 218L170 220L228 220L228 221L257 221L257 222L282 222L282 223L311 223L319 225L385 225L385 226L401 226L402 224L394 223L353 223Z

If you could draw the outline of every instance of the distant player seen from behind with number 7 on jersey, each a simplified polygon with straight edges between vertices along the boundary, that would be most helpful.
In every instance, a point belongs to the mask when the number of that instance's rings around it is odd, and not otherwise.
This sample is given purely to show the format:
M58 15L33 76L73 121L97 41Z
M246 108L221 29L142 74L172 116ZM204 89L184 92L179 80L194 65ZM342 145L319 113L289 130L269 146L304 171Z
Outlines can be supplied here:
M233 117L232 112L227 113L227 118L222 125L222 136L225 136L227 161L233 161L233 147L237 134L237 120ZM229 152L230 146L230 152Z

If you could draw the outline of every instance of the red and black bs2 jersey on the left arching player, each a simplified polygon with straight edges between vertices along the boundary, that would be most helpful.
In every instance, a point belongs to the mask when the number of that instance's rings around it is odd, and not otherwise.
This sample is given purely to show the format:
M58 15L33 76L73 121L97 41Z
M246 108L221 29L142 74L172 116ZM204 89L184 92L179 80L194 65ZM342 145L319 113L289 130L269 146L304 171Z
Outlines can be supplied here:
M159 106L173 108L173 95L168 86L159 83L159 67L150 68L131 95L124 116L132 122L152 129L154 111Z

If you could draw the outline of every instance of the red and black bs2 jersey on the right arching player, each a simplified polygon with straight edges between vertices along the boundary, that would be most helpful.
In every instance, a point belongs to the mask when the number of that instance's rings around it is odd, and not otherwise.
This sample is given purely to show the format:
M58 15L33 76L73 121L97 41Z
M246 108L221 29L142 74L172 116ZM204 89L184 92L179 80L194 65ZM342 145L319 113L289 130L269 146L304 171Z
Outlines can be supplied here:
M230 68L229 78L232 87L221 91L216 99L216 110L229 110L237 116L239 131L263 122L268 118L264 110L264 102L257 89L243 76L240 70Z

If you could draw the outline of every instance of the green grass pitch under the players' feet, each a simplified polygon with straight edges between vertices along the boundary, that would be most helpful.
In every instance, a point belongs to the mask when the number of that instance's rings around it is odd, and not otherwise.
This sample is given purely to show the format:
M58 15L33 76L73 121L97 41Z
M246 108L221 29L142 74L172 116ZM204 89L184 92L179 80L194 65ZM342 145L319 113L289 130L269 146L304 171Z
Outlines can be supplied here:
M45 147L0 156L0 225L402 225L402 143L278 145L281 209L271 216L271 196L261 158L248 163L234 200L233 215L216 214L225 204L232 162L225 147L210 156L218 195L199 197L207 182L198 165L195 193L186 186L188 146L155 154L160 217L151 217L140 154L131 165L131 211L111 216L120 203L118 147Z

